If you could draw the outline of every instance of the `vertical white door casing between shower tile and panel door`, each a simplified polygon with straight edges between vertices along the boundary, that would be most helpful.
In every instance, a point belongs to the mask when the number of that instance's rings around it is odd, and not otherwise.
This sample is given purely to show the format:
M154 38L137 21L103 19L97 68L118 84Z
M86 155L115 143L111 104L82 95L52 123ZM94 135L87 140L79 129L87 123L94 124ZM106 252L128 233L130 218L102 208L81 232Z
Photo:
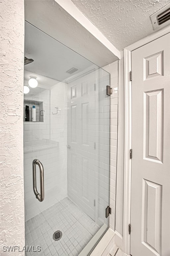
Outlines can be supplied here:
M125 83L125 148L124 148L124 211L123 211L123 251L130 254L130 201L131 201L131 52L124 50L124 83Z

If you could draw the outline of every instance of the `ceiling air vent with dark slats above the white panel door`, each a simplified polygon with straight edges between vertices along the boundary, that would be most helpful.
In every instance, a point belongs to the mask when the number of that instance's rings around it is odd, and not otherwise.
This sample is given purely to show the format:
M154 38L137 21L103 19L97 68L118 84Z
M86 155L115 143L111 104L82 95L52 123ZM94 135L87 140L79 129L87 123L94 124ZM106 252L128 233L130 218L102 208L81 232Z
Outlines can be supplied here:
M150 16L154 30L158 30L170 24L170 3Z

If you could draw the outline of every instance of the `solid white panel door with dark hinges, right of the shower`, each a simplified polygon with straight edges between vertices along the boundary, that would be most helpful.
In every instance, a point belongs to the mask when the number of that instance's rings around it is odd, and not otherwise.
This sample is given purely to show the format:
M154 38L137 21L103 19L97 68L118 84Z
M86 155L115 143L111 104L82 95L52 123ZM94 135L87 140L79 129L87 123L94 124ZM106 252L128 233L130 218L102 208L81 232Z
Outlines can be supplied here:
M132 52L132 256L170 256L170 33Z

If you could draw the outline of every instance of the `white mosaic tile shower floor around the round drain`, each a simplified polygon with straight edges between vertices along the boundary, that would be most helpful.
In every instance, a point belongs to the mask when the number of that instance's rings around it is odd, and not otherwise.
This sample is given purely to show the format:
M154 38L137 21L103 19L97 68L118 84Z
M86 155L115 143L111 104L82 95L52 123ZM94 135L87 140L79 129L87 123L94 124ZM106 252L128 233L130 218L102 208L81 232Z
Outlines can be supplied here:
M68 197L25 222L26 246L41 246L41 252L26 256L77 256L100 227ZM62 237L54 241L57 230Z

